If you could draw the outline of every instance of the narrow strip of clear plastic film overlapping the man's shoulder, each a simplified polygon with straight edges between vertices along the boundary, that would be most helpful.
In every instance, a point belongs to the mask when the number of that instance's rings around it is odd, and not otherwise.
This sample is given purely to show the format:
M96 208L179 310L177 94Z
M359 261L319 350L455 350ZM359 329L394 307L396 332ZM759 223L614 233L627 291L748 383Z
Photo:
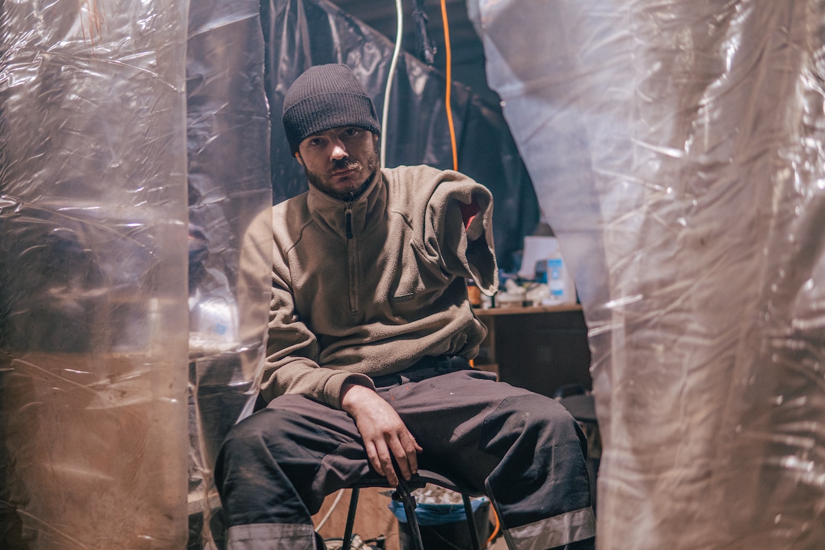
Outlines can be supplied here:
M188 35L189 543L214 548L225 530L214 461L257 396L271 297L260 4L191 2Z

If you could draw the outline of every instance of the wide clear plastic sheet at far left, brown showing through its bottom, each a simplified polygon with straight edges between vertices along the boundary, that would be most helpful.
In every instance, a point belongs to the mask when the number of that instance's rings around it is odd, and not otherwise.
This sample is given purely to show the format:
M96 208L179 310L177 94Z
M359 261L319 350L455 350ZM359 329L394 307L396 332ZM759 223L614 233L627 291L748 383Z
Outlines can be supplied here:
M179 548L186 6L2 10L4 548Z

